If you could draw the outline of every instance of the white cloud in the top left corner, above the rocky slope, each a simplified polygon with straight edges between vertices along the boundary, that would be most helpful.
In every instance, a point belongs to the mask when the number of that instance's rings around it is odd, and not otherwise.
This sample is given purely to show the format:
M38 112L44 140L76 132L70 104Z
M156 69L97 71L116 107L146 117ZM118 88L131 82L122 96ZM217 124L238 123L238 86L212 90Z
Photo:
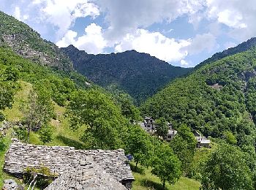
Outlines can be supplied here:
M18 20L26 21L41 34L56 34L60 39L75 23L76 18L87 16L96 18L99 8L90 0L2 0L1 10L15 16ZM5 4L10 4L9 7Z

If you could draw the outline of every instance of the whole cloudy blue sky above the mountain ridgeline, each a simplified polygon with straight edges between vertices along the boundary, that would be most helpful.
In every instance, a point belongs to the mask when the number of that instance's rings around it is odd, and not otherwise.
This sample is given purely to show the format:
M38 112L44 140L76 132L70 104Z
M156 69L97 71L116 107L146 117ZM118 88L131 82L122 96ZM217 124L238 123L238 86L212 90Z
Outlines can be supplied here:
M183 67L256 37L256 0L0 0L0 10L59 47Z

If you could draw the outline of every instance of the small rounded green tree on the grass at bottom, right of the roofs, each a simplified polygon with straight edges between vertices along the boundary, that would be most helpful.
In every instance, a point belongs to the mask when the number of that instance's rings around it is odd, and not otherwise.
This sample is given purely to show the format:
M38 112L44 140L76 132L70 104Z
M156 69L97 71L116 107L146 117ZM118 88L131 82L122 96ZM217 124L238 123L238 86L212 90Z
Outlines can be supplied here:
M166 182L174 184L181 177L181 161L165 143L162 143L154 153L151 167L152 174L161 179L164 189Z

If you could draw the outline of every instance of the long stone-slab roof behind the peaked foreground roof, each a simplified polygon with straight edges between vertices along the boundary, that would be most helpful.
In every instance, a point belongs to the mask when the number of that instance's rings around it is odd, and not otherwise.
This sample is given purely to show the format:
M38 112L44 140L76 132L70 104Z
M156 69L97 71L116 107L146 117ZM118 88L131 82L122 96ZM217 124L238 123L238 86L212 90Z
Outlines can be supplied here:
M134 180L124 150L75 150L73 147L30 145L12 142L5 156L4 171L13 175L23 174L27 167L48 167L50 172L61 175L72 170L80 160L91 156L96 164L118 181Z

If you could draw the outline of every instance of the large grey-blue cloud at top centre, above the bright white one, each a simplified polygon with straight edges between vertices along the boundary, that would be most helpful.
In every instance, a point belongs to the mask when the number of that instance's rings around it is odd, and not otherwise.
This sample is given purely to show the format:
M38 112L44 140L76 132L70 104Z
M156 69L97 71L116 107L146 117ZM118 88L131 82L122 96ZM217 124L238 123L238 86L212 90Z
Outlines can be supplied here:
M171 22L181 15L196 14L204 0L95 0L109 23L106 37L119 39L152 23Z

